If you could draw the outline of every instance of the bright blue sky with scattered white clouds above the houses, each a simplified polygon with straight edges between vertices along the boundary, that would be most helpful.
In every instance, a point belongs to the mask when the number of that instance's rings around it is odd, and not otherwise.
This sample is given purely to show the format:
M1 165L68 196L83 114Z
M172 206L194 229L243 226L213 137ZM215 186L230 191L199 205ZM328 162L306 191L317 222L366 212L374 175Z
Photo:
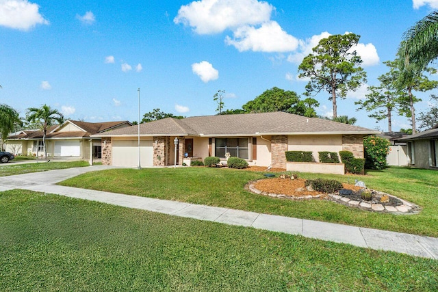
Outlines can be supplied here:
M133 121L140 88L142 115L212 115L218 90L227 92L225 109L274 86L302 94L302 57L320 38L346 31L361 36L367 84L376 85L403 32L437 8L438 0L0 0L0 103L22 116L46 103L72 119ZM339 100L338 115L387 130L386 121L355 111L364 94L366 85ZM315 96L318 114L331 113L328 97ZM397 116L393 129L400 127L409 123Z

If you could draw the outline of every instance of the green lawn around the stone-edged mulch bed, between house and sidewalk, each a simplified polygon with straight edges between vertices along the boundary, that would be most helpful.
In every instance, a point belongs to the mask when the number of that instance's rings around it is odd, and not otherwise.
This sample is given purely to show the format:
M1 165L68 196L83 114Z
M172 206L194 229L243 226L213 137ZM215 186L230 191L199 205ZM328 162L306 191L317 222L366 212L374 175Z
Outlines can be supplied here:
M365 181L372 189L420 205L423 210L416 215L373 213L326 200L294 201L260 196L245 191L244 185L263 175L244 170L115 169L83 174L60 184L438 237L437 174L433 170L407 168L369 171L365 176L299 174L302 178L334 178L345 183L354 183L355 179Z

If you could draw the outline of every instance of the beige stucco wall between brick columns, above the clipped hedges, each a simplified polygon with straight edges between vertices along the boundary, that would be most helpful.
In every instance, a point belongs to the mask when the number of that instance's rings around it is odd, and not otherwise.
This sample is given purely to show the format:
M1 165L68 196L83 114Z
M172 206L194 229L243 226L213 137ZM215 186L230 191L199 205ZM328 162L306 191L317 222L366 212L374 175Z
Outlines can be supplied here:
M318 152L339 152L342 148L342 135L291 135L288 137L289 151L312 151L313 159L320 162Z

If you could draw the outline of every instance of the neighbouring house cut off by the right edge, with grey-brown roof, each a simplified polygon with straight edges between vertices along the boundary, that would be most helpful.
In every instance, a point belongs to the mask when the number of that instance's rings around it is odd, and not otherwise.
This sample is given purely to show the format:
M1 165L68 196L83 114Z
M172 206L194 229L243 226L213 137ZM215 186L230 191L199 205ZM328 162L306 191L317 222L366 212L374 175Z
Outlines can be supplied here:
M397 141L407 143L409 166L438 170L438 124L433 129Z

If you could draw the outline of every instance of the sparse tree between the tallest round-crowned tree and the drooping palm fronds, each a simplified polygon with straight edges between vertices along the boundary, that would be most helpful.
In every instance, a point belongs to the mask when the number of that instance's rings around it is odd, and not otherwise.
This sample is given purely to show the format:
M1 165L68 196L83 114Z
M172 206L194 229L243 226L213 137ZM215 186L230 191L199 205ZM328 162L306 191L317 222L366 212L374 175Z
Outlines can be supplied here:
M400 70L398 70L397 61L386 61L383 62L388 68L389 72L379 76L377 79L380 81L378 86L370 86L368 88L369 92L365 95L366 99L364 101L355 102L359 105L360 109L365 109L365 111L372 111L372 114L368 116L370 118L375 118L376 122L379 120L388 119L388 131L392 131L392 111L398 110L400 107L400 98L402 93L397 88L397 79L400 75Z

